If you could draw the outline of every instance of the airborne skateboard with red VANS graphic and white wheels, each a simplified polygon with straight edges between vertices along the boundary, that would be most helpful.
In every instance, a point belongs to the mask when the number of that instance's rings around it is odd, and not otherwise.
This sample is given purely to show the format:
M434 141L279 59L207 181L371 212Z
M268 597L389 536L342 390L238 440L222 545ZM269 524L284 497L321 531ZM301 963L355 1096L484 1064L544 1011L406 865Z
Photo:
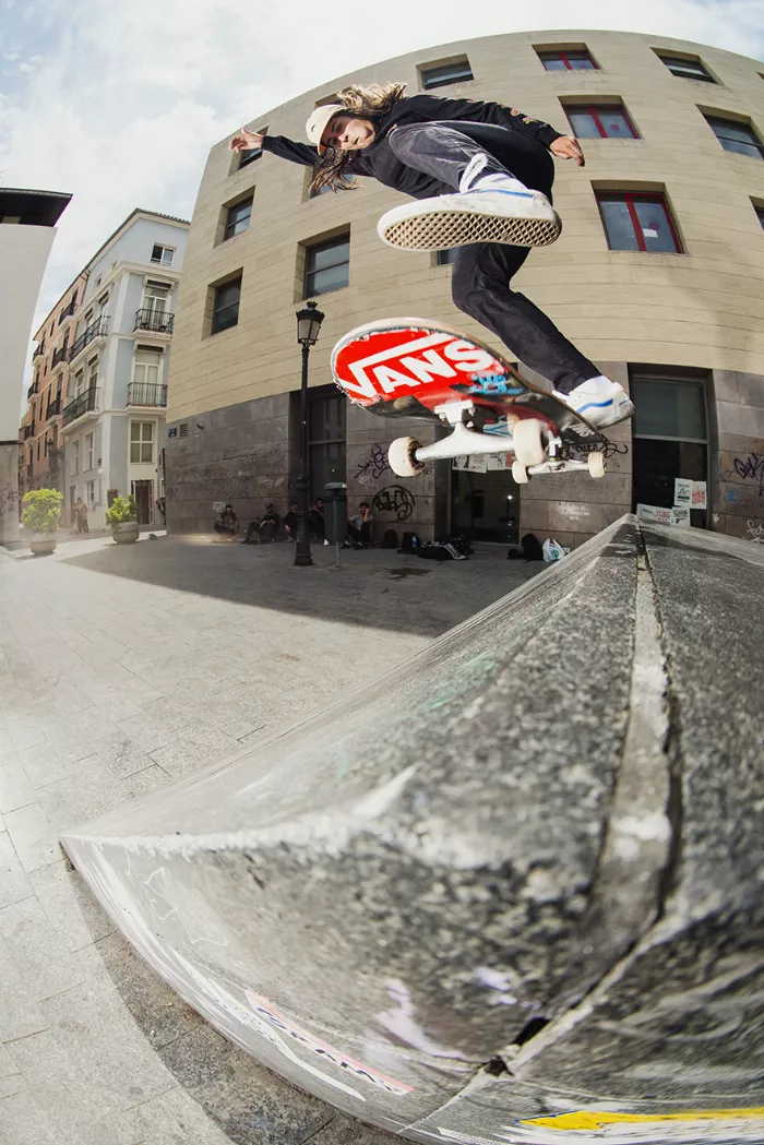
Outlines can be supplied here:
M450 426L447 437L430 445L396 437L387 459L399 477L465 453L512 453L518 484L572 469L605 476L607 439L596 426L451 326L380 318L340 338L331 365L342 393L371 413Z

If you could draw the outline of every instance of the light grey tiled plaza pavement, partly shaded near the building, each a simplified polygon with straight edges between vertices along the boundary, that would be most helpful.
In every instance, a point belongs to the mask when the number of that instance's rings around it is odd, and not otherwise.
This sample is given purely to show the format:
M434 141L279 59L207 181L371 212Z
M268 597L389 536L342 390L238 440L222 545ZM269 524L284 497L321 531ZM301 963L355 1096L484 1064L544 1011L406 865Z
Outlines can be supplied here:
M221 1039L69 869L65 828L277 734L538 571L503 552L62 537L0 548L0 1143L381 1145Z

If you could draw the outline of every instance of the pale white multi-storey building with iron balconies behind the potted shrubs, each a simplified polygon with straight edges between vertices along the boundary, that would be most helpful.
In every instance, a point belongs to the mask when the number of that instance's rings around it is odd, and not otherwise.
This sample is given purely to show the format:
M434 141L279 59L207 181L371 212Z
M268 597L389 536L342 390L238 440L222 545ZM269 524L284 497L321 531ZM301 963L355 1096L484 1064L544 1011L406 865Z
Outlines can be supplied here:
M81 497L90 529L102 529L111 502L129 493L142 524L157 520L170 344L188 228L182 219L137 208L85 267L62 411L68 521Z

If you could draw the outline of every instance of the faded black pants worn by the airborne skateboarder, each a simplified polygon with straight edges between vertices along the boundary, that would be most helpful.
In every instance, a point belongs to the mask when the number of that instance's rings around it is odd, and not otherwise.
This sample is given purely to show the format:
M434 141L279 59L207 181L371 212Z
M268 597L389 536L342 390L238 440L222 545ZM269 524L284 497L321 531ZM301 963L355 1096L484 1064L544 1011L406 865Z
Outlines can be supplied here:
M388 140L402 163L442 182L443 194L457 190L470 161L485 155L481 175L512 174L551 199L554 160L543 143L519 132L493 124L403 124ZM503 243L460 246L451 271L454 303L501 338L523 365L567 394L599 370L543 310L510 289L530 250Z

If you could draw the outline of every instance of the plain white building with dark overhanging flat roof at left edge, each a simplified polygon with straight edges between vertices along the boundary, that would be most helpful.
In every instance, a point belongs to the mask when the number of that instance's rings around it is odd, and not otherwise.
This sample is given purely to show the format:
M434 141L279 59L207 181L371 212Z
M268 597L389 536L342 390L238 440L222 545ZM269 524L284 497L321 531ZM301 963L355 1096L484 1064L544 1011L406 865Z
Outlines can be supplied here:
M0 188L0 544L18 537L18 442L32 428L25 419L19 435L24 358L56 223L70 199Z

